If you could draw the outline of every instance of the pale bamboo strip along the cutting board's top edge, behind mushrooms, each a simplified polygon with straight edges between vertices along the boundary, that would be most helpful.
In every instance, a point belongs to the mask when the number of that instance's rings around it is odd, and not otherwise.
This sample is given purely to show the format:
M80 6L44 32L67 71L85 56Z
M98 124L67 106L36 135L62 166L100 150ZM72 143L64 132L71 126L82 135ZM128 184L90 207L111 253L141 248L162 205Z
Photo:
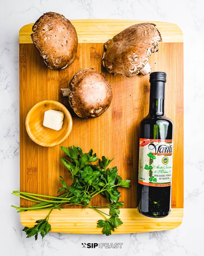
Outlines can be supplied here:
M144 21L144 20L103 20L103 19L87 19L87 20L70 20L76 29L79 43L105 43L125 28L143 22L156 24L162 35L163 43L179 43L183 42L182 30L176 24L160 21ZM33 23L23 26L19 31L20 44L32 44L30 37L32 34Z

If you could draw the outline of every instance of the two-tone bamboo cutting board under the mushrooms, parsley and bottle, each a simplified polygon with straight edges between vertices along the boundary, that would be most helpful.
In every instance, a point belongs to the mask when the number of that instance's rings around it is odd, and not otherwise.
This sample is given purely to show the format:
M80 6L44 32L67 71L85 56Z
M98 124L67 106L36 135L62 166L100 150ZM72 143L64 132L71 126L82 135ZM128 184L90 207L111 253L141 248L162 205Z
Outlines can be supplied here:
M137 210L139 123L148 113L149 75L127 78L113 76L102 66L103 44L138 20L71 20L78 35L75 61L61 71L49 69L32 43L32 25L20 30L20 190L56 196L61 175L71 185L70 174L60 162L65 157L60 146L79 145L84 152L91 148L97 156L114 158L111 166L118 167L123 179L131 180L131 188L121 188L120 201L125 202L120 218L124 222L113 233L135 233L176 228L183 217L183 36L180 28L171 23L153 22L162 35L159 51L149 58L152 71L167 73L165 113L174 122L174 158L171 213L165 218L148 218ZM113 98L109 109L95 119L81 119L71 112L60 88L67 88L80 69L94 68L109 80ZM42 100L56 100L71 112L73 129L69 137L55 147L35 144L27 135L25 117ZM93 205L105 205L100 196ZM20 200L22 207L31 203ZM67 207L67 206L66 206ZM33 226L47 211L20 213L23 226ZM67 207L50 214L52 232L100 234L97 220L101 216L92 209Z

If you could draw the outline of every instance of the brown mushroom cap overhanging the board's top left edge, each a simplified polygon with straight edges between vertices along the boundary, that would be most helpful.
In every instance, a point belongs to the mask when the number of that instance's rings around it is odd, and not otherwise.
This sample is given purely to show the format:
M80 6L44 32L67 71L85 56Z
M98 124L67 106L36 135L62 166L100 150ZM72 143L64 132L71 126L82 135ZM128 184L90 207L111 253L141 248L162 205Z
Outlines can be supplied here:
M33 25L31 38L44 62L51 69L63 69L70 65L78 46L74 26L63 15L45 13Z

